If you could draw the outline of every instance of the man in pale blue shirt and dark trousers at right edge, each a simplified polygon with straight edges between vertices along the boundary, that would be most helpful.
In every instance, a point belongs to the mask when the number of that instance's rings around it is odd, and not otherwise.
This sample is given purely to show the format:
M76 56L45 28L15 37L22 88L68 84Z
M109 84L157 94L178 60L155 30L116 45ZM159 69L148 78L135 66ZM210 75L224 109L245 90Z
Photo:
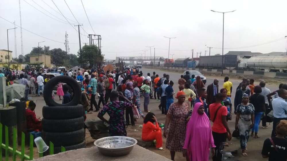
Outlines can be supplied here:
M272 101L272 107L273 107L273 130L272 130L272 137L275 137L275 128L278 122L280 120L287 120L287 102L285 101L287 99L287 90L280 89L278 91L278 98L275 98Z

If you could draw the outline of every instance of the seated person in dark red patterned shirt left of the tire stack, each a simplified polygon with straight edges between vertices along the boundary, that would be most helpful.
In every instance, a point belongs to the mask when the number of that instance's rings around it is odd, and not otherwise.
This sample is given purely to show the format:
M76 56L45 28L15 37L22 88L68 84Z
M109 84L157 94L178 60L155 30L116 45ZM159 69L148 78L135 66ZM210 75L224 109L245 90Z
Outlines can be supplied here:
M26 108L27 129L39 132L42 130L42 124L41 118L36 118L34 112L35 108L36 104L33 101L30 101L28 108Z

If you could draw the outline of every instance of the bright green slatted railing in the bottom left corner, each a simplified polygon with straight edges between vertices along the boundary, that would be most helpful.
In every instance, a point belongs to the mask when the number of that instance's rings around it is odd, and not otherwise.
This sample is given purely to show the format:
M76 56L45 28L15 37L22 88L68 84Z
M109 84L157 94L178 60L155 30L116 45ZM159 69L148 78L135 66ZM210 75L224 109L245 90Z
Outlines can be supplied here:
M0 158L3 160L2 156L2 149L5 149L5 161L9 161L9 153L12 153L13 161L16 161L16 156L20 157L21 160L33 160L33 144L34 144L34 136L30 134L30 147L29 147L29 155L25 154L25 133L22 132L21 137L21 151L17 150L17 129L13 128L13 147L9 147L9 133L8 133L8 127L5 126L5 144L2 143L2 128L3 125L0 123ZM43 147L40 147L40 151L42 151ZM61 146L61 152L65 152L65 147ZM54 144L50 142L49 146L49 154L54 154ZM43 157L43 153L39 153L39 158Z

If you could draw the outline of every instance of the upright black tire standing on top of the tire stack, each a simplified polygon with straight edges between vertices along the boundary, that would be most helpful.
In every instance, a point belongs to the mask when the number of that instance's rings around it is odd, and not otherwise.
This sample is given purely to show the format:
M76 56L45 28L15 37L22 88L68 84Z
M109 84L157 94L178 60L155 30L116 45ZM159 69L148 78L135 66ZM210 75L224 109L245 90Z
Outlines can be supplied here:
M60 82L68 84L73 91L71 102L67 104L58 104L52 99L53 88ZM48 106L75 106L79 103L81 94L81 87L79 86L78 82L72 77L65 75L53 77L50 79L49 82L45 84L43 92L44 100Z

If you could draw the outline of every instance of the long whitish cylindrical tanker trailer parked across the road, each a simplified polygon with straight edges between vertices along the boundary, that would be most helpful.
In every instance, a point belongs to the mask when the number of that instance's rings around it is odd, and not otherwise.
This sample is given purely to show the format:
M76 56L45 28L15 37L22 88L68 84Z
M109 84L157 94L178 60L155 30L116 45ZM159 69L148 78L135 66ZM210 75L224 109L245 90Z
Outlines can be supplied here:
M254 56L247 60L248 69L264 70L264 71L280 71L287 72L287 55L280 56Z

